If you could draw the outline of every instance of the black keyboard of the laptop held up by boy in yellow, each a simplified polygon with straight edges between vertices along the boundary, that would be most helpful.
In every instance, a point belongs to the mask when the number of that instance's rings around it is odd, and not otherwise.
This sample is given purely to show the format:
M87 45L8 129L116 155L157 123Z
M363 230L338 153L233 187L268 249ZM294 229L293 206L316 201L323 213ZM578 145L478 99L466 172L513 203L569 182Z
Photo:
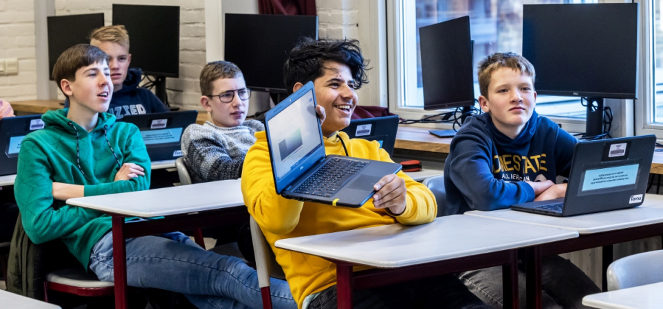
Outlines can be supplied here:
M330 197L367 164L368 162L364 161L331 159L307 181L301 183L294 192Z

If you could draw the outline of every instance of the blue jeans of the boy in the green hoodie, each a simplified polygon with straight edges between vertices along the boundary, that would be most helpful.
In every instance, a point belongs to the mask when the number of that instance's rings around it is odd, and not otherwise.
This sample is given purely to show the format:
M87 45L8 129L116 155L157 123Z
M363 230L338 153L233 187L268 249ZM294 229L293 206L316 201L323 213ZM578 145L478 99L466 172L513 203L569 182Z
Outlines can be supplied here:
M113 282L113 233L92 248L90 269ZM198 308L262 308L256 271L239 258L199 247L183 233L127 240L127 284L182 293ZM272 306L297 308L287 282L272 278Z

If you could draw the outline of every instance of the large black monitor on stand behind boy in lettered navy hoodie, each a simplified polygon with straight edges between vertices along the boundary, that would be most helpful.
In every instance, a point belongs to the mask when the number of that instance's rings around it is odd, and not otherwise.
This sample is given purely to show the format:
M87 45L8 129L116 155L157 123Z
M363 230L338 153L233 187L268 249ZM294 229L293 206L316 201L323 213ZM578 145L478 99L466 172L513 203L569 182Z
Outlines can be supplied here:
M587 98L589 137L603 134L603 99L638 92L638 3L523 6L523 56L543 95Z

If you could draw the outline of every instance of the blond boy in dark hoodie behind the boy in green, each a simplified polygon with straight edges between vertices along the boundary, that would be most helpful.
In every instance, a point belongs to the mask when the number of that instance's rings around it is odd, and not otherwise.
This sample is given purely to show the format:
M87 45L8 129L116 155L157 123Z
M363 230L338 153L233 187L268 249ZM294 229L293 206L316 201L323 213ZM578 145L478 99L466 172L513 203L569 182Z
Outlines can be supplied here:
M108 113L122 119L124 115L164 113L170 111L152 91L138 87L142 71L129 69L129 33L123 25L100 27L90 35L90 45L99 47L108 55L113 82L113 99ZM65 102L65 107L68 107Z

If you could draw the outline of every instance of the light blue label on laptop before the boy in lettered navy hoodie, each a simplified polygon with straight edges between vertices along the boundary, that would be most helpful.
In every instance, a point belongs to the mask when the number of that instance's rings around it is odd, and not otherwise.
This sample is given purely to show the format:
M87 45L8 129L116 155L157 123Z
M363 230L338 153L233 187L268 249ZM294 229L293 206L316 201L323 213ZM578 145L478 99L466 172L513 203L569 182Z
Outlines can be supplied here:
M580 191L599 190L610 187L633 185L638 178L638 164L598 168L585 171Z

